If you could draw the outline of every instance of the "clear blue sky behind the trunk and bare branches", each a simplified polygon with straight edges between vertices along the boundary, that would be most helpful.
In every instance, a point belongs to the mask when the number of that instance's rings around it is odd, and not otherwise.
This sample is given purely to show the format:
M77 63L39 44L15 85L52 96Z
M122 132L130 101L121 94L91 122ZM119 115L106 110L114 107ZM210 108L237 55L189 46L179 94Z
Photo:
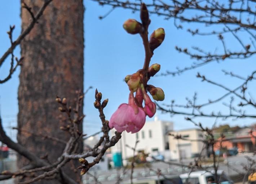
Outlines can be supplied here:
M128 87L123 82L123 78L127 74L132 74L138 69L142 68L144 62L144 47L139 35L129 35L122 27L123 22L129 18L139 20L138 12L132 13L131 10L116 9L105 19L100 20L98 16L107 13L110 7L98 6L97 3L87 0L85 4L85 18L84 18L84 86L85 89L89 86L98 88L102 92L103 98L109 98L109 103L105 108L105 115L107 119L117 109L121 103L128 100ZM14 38L17 38L21 32L20 19L20 1L10 0L4 1L0 6L0 55L10 46L8 35L6 32L10 24L15 24ZM206 51L222 51L221 42L217 36L191 36L186 32L186 28L202 27L203 30L211 30L203 28L202 24L184 24L185 29L176 29L173 24L173 19L164 20L163 17L151 15L151 24L149 32L154 29L163 27L165 29L165 40L162 45L155 50L151 64L159 63L161 65L161 72L165 70L174 71L176 67L182 68L192 64L193 60L184 54L180 54L175 50L175 46L191 48L192 46L200 46ZM216 29L221 29L215 26ZM243 33L240 35L244 38L245 43L248 42L248 37ZM227 36L226 42L229 48L241 50L239 43L232 36ZM19 56L19 48L15 50L15 55ZM253 60L254 59L254 60ZM224 90L212 86L207 83L202 83L195 77L197 72L205 74L209 79L219 81L221 84L226 84L230 88L236 87L240 84L240 80L230 78L224 75L221 70L232 71L234 73L246 77L255 69L255 56L247 60L225 60L220 63L211 63L198 69L187 71L179 76L172 77L154 77L150 79L150 84L161 87L165 92L165 100L163 103L168 104L172 99L177 103L185 103L186 97L192 97L194 92L198 93L198 103L207 102L208 99L215 99ZM3 79L8 73L9 60L0 69L0 78ZM18 112L17 89L18 89L18 75L19 69L14 73L11 80L5 84L0 85L0 105L1 116L5 126L10 126L10 122L15 124L16 115ZM250 86L253 92L255 91L255 84ZM84 114L86 115L84 121L85 133L93 133L100 130L100 119L98 112L93 107L94 89L89 91L85 97ZM255 95L256 97L256 95ZM54 98L54 97L53 97ZM230 98L226 98L228 102ZM161 104L161 103L160 103ZM222 111L228 112L228 108L221 103L206 108L206 112ZM252 109L247 109L248 112L253 112ZM191 128L193 125L184 120L184 116L173 116L169 114L157 113L159 119L169 120L174 122L175 129ZM150 119L147 119L150 120ZM215 119L198 118L198 121L203 125L211 126ZM219 124L229 123L231 125L245 125L253 123L253 119L242 119L226 121L219 120Z

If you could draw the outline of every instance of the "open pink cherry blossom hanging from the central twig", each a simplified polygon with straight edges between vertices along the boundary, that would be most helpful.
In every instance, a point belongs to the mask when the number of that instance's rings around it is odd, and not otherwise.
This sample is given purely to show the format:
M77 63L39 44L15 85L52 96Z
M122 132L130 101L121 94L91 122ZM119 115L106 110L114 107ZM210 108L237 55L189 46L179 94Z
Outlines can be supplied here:
M146 114L141 107L134 103L133 93L129 95L129 104L122 103L111 116L109 128L115 128L118 132L136 133L144 126Z

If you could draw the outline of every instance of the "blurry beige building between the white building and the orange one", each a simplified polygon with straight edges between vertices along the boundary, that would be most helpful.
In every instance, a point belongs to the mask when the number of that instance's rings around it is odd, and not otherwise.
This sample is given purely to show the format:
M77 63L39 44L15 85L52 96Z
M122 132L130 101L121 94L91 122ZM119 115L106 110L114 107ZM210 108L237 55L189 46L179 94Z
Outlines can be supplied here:
M189 140L205 139L205 133L197 128L172 131L170 133L173 135L181 135L182 138ZM169 148L172 160L196 157L202 151L204 145L202 141L188 141L184 139L175 139L174 136L169 135ZM201 155L207 155L206 149L203 150Z

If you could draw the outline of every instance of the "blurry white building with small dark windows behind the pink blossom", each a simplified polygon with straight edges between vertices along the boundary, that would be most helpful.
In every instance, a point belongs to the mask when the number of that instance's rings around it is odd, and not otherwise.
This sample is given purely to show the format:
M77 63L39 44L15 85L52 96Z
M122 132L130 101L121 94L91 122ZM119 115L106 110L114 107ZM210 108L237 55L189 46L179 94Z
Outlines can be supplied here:
M158 120L157 116L154 121L147 121L143 128L137 133L122 133L121 140L111 147L111 152L122 152L123 160L133 156L133 150L125 145L134 147L136 139L138 144L136 151L144 151L152 155L164 155L169 157L168 132L173 130L173 123L170 121ZM111 130L111 135L114 135L115 129ZM167 155L166 155L167 154Z

